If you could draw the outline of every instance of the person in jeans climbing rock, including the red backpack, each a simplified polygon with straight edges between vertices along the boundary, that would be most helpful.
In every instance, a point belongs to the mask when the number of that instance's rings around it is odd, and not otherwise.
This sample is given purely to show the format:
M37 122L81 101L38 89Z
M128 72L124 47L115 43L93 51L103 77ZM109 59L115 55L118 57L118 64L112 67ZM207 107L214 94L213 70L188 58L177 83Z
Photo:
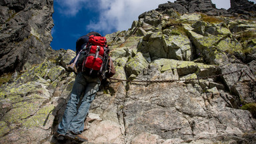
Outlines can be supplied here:
M77 76L63 119L57 129L57 140L67 138L81 142L88 141L87 137L83 137L81 133L89 107L95 99L102 79L115 74L106 43L105 37L96 32L88 33L77 39L77 56L71 61L71 65L77 69ZM97 65L98 67L96 67ZM78 105L79 101L81 101L81 105Z

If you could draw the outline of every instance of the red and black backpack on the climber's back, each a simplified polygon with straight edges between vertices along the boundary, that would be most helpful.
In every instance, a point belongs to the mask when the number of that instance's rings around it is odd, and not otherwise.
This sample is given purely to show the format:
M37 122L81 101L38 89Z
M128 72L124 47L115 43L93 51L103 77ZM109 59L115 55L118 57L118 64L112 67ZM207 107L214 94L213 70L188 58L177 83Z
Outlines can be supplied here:
M107 69L109 48L107 39L91 35L89 43L80 51L77 60L78 69L93 76L98 76Z

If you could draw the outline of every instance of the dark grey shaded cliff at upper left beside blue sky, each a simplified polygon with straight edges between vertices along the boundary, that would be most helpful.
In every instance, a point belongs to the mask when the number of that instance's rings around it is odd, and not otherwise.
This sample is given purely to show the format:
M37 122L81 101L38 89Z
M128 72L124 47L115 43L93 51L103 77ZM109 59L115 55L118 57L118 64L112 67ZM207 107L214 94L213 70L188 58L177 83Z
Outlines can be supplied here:
M0 75L43 62L51 51L53 0L3 0L0 9Z

